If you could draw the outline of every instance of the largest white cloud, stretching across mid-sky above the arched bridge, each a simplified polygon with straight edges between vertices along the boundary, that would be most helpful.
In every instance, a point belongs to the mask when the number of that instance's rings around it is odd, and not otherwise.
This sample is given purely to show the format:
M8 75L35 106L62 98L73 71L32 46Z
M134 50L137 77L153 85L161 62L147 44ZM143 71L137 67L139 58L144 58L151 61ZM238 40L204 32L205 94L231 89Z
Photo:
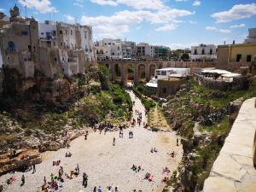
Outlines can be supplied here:
M188 10L179 9L162 9L154 12L124 10L110 16L90 17L83 15L81 22L83 25L93 26L97 38L122 38L125 32L129 32L129 28L133 24L148 21L150 24L163 25L157 28L157 31L172 31L174 27L177 27L178 23L183 22L182 20L177 20L177 18L192 14Z

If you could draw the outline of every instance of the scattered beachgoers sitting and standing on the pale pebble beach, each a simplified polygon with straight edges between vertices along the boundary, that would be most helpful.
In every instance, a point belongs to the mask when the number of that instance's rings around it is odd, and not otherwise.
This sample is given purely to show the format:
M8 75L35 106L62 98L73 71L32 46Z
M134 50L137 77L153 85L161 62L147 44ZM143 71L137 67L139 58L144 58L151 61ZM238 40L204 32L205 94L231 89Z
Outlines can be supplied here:
M137 99L137 97L135 98ZM133 105L135 105L135 102L133 102ZM143 125L144 128L147 128L147 123L143 122L143 113L145 113L145 111L140 112L138 110L135 110L135 113L133 114L133 117L131 119L131 123L130 123L130 127L134 128L136 127L136 125L138 125L139 127L141 127L141 125ZM123 138L124 137L124 129L126 128L126 125L112 125L110 123L103 123L100 125L97 125L94 128L94 131L99 131L100 134L102 134L102 131L104 131L104 134L106 134L108 131L113 131L113 129L119 129L119 138ZM84 140L88 140L89 137L89 132L86 131L84 134ZM128 134L129 139L133 139L134 138L134 132L131 130L129 131ZM177 146L179 144L179 140L177 138ZM116 145L116 138L113 137L113 147ZM67 148L69 147L69 143L67 143ZM150 153L154 154L154 153L158 153L158 149L152 147L150 149ZM177 154L175 153L175 151L172 151L170 153L168 153L169 155L171 155L172 158L174 158ZM69 158L72 156L72 153L70 152L66 152L65 157ZM58 172L52 172L49 177L44 177L44 181L43 184L40 187L41 192L54 192L54 191L60 191L60 189L63 189L63 183L65 182L66 179L73 179L75 177L79 177L79 179L81 179L81 184L82 186L84 186L84 188L87 188L88 186L88 178L89 176L86 174L86 172L83 172L80 176L80 167L79 164L77 164L73 170L64 170L64 167L62 166L62 162L61 160L55 160L52 162L52 166L58 166ZM30 164L29 168L32 170L32 173L36 172L36 166ZM136 165L132 165L131 166L131 171L132 172L144 172L143 166L136 166ZM168 167L165 167L163 169L163 179L162 182L163 183L167 183L169 180L168 174L171 173L170 169ZM148 182L153 182L154 181L154 174L152 172L145 172L144 177L142 178L143 180L148 180ZM15 177L10 177L7 181L8 184L11 184L13 182L15 182L17 179ZM21 183L20 183L20 187L22 187L25 183L25 176L24 174L22 174L21 178ZM119 186L108 186L107 190L102 189L102 186L95 186L92 189L93 192L103 192L103 191L108 191L108 192L118 192L119 191ZM137 190L137 189L133 189L133 192L142 192L141 189Z

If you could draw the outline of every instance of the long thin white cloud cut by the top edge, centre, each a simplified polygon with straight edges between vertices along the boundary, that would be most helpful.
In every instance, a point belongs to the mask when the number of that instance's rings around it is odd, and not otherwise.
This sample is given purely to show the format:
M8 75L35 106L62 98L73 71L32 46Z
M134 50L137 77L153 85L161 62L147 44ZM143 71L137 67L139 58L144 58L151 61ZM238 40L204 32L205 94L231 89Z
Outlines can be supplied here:
M165 4L161 0L90 0L92 3L101 5L117 6L124 4L134 9L164 9Z

